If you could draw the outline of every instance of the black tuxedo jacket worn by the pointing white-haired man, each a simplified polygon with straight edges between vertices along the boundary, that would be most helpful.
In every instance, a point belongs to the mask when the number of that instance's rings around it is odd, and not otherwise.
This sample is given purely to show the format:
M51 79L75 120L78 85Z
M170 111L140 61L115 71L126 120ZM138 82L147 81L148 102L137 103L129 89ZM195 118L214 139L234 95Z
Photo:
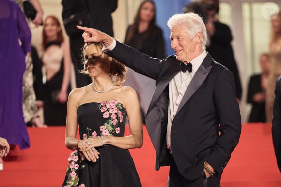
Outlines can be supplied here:
M169 82L180 72L175 56L150 58L117 42L107 52L134 71L157 81L145 124L156 150L156 170L169 165L166 130ZM194 74L172 121L172 154L179 172L187 179L202 175L206 160L221 173L238 144L241 117L233 74L207 55Z

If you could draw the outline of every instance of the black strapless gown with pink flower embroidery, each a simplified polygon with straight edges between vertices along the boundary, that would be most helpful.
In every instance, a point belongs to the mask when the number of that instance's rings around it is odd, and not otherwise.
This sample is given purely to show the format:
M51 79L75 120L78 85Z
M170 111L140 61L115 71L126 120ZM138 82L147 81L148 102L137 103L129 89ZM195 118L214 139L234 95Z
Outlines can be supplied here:
M80 139L98 136L124 136L126 111L116 100L86 103L78 107ZM141 187L129 150L111 145L96 147L97 162L82 153L70 154L62 187Z

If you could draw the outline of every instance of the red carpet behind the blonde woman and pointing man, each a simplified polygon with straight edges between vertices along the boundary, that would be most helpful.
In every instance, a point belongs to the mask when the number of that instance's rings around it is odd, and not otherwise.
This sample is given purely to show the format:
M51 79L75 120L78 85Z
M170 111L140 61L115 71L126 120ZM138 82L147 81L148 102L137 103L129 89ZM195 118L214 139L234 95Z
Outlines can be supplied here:
M166 187L168 167L154 169L155 151L143 126L144 144L131 150L143 187ZM31 147L4 158L0 187L61 187L70 150L64 127L28 128ZM126 129L128 133L128 129ZM244 124L240 142L225 168L221 187L281 187L270 124Z

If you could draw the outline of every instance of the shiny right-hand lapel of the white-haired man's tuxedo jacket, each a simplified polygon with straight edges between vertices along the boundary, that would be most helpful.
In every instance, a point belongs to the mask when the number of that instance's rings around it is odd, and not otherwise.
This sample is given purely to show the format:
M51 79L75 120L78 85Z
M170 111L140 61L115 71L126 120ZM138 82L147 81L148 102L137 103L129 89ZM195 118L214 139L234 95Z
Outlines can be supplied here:
M213 59L209 54L206 56L206 58L204 58L202 64L199 66L197 72L194 74L194 77L192 78L189 86L187 87L184 97L177 109L176 115L184 106L184 104L189 100L189 98L194 94L194 92L202 85L202 83L208 76L210 70L212 69L212 61Z

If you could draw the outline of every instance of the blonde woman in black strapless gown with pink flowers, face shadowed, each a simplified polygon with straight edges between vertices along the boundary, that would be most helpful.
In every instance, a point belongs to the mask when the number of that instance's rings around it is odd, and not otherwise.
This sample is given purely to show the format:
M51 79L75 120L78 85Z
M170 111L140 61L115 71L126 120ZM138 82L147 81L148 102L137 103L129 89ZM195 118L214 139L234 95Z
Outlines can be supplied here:
M101 43L85 44L83 72L94 81L69 94L65 145L73 152L62 186L141 187L128 150L143 143L137 94L120 85L126 67L101 49ZM128 136L124 136L126 116Z

